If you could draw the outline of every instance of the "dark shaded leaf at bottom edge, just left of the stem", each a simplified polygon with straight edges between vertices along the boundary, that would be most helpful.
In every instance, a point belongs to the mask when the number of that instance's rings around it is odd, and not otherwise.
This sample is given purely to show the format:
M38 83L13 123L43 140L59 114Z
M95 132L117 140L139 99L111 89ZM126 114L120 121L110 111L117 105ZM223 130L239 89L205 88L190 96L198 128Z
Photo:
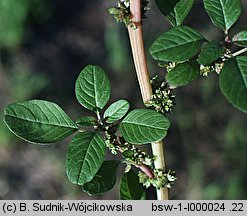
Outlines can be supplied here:
M142 185L139 183L139 177L130 170L124 173L120 183L120 199L122 200L140 200L145 196Z

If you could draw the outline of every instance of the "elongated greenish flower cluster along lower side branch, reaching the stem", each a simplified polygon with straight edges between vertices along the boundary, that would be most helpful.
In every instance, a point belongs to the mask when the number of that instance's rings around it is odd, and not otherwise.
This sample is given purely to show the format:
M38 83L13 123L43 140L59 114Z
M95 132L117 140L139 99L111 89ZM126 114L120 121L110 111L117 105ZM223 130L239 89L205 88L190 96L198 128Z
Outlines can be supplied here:
M132 166L140 169L138 176L139 182L146 188L154 186L156 188L171 188L174 184L174 171L165 171L154 168L155 157L150 157L146 152L136 148L126 140L116 135L117 124L110 124L105 127L106 145L110 152L114 155L121 153L126 163L125 172L129 172Z

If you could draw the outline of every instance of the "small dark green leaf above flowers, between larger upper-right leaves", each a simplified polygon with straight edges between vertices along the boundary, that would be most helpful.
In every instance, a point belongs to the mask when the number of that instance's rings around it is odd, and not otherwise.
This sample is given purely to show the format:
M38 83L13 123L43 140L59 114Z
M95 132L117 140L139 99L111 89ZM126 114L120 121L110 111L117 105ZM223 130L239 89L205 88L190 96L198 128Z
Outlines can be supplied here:
M211 65L217 59L224 56L225 48L217 42L208 42L201 50L198 62L201 65Z

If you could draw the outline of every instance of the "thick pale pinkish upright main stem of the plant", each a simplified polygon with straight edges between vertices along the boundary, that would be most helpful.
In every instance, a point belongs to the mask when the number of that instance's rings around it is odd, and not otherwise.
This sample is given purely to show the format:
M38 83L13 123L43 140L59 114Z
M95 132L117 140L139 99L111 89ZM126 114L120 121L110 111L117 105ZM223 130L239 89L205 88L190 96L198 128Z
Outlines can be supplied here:
M134 22L136 29L128 26L130 43L132 48L132 55L135 63L136 74L142 94L144 103L148 102L152 96L152 88L150 84L150 77L147 67L147 60L144 49L143 35L142 35L142 19L141 19L141 0L130 0L130 11L132 14L132 22ZM152 143L153 155L156 157L154 165L156 169L165 169L165 155L162 141ZM168 189L157 189L158 200L168 200Z

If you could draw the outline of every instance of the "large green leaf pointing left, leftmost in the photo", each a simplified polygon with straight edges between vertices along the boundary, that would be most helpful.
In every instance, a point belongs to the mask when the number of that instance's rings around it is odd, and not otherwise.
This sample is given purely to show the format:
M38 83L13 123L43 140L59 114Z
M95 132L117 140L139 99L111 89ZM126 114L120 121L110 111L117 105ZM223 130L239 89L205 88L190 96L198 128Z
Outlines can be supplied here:
M44 100L10 104L4 115L8 128L16 136L32 143L54 143L78 129L57 104Z

